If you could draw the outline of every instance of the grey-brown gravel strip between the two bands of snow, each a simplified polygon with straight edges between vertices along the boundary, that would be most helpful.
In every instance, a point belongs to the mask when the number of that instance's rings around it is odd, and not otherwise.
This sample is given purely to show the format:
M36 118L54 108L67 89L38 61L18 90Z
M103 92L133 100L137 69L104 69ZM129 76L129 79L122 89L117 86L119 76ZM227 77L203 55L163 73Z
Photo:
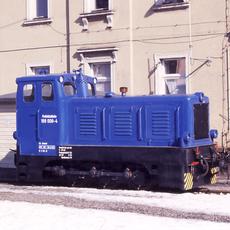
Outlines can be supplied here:
M102 202L79 199L63 195L64 192L78 192L74 188L68 187L45 187L45 186L16 186L0 184L0 200L22 201L39 204L62 205L80 209L103 209L119 212L140 213L152 216L172 217L182 219L197 219L215 222L230 223L229 216L212 215L204 213L183 212L167 208L150 207L146 205L130 204L127 202ZM45 192L39 194L39 192ZM49 195L49 192L55 192L55 195ZM101 195L106 195L100 190ZM116 194L116 191L114 192ZM60 194L60 195L59 195ZM138 195L135 195L135 197ZM149 197L151 199L151 197Z

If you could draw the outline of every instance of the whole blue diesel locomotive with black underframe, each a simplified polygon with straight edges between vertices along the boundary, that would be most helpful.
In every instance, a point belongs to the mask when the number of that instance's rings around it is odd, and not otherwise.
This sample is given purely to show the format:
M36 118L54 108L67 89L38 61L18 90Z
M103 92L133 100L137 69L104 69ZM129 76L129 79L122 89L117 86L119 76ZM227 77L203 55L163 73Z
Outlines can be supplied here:
M96 93L75 74L17 79L20 181L105 180L190 190L215 183L209 101L193 95Z

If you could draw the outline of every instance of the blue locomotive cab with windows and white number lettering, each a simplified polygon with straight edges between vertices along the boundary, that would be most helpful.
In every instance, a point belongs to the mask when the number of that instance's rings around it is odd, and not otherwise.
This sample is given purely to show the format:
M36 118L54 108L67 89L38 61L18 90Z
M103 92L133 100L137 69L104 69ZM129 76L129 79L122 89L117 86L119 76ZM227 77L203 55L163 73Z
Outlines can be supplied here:
M71 97L95 96L96 79L88 76L83 78L81 73L43 75L18 78L17 85L15 161L19 171L22 171L19 176L25 177L25 165L33 162L28 160L28 156L34 159L38 156L56 156L56 146L63 142L65 135L61 122L65 114L65 101ZM21 161L23 156L27 160ZM36 168L36 165L33 167ZM35 175L31 174L30 177L34 178Z

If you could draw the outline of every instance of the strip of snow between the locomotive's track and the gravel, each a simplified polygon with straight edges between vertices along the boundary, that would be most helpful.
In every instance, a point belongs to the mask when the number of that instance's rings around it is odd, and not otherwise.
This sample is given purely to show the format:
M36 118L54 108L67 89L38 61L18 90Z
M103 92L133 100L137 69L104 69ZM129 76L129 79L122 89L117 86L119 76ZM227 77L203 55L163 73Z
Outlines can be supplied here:
M33 193L38 195L70 196L101 202L126 202L185 212L199 212L230 216L230 194L161 193L148 191L107 190L63 187L27 187L17 189L0 187L0 192Z

